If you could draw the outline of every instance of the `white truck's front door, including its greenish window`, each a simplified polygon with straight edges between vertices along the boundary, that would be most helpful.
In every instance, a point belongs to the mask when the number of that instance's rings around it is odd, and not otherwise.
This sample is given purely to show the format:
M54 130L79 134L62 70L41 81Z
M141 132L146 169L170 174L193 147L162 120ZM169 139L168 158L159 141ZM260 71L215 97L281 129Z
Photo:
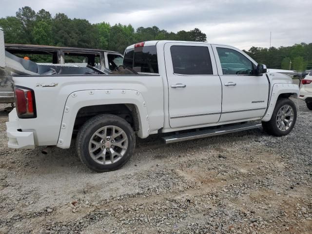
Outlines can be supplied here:
M252 59L230 46L213 45L222 82L222 114L219 122L260 118L268 104L269 81L255 75Z

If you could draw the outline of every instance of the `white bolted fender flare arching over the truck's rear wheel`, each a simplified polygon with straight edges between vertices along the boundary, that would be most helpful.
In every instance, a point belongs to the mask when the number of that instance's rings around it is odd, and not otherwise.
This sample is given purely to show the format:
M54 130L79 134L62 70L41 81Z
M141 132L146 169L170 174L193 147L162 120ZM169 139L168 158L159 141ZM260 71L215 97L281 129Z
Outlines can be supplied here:
M82 107L105 104L134 104L137 108L138 137L149 136L149 120L144 97L137 90L81 90L71 93L65 103L57 146L70 147L75 119Z

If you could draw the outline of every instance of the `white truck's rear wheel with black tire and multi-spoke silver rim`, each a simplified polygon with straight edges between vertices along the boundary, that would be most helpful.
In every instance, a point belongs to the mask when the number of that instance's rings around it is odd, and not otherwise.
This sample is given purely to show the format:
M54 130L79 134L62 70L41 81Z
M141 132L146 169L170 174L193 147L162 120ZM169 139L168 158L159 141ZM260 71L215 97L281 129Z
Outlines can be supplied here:
M130 124L123 118L106 114L86 121L76 139L81 162L96 172L122 167L132 156L135 145L136 137Z

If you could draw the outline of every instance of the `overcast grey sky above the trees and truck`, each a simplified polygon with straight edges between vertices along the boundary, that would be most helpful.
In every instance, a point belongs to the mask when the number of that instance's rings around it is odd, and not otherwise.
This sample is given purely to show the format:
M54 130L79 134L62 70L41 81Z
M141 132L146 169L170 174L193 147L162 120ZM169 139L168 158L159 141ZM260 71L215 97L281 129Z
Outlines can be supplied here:
M158 26L177 32L195 27L209 42L240 49L312 42L312 0L0 0L0 17L30 6L91 23Z

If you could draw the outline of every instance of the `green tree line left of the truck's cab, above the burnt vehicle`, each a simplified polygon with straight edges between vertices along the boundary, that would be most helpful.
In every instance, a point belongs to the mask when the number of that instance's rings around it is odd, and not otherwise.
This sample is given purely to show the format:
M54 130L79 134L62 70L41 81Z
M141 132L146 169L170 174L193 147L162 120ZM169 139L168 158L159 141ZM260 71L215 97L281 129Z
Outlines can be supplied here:
M139 27L131 24L108 22L92 24L85 19L70 19L63 13L54 17L41 9L37 13L30 7L22 7L16 16L0 19L6 43L40 44L113 50L123 53L131 44L147 40L206 41L206 34L198 28L177 33L160 30L158 27Z

